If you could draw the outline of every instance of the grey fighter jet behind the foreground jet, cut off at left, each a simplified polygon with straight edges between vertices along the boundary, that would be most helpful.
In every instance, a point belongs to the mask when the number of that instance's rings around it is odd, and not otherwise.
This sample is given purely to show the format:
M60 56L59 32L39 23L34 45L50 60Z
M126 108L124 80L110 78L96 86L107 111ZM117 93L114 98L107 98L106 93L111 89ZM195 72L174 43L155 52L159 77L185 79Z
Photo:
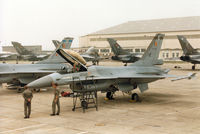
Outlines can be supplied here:
M63 44L71 45L71 40L64 39L59 48ZM23 86L31 81L57 71L68 72L71 68L55 49L48 59L35 64L0 64L0 83L7 83L10 88L17 87L18 92L22 92Z

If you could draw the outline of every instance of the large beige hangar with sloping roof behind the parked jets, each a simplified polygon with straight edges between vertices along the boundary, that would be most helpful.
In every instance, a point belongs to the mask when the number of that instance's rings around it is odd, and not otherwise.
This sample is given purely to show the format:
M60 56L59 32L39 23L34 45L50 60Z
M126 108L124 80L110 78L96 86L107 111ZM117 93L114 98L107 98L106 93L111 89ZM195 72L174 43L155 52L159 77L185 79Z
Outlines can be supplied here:
M200 49L200 16L128 21L79 38L79 48L95 46L101 55L111 55L106 41L114 38L130 52L144 52L156 33L165 34L160 58L176 59L182 55L177 35L184 35L191 45Z

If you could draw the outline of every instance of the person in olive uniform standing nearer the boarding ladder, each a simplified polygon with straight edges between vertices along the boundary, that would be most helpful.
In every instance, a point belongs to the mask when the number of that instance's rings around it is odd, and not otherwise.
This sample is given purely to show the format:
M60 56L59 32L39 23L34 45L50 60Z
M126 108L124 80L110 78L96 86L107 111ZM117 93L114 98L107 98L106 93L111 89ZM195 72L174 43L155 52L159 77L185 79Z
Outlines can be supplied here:
M52 102L52 112L53 113L51 114L51 116L60 114L60 101L59 101L59 93L60 92L57 89L57 86L58 86L57 83L52 83L52 87L54 88L54 99L53 99L53 102ZM56 105L57 105L57 113L56 113Z

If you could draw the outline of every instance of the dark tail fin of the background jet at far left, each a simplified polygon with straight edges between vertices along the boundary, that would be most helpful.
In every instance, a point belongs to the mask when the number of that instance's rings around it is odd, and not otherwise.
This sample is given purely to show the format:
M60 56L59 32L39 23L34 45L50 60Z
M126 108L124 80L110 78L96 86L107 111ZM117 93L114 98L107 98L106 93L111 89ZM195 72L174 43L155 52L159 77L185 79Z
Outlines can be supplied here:
M17 53L20 55L30 55L32 54L31 51L28 51L24 46L21 45L19 42L11 42L14 48L16 49Z

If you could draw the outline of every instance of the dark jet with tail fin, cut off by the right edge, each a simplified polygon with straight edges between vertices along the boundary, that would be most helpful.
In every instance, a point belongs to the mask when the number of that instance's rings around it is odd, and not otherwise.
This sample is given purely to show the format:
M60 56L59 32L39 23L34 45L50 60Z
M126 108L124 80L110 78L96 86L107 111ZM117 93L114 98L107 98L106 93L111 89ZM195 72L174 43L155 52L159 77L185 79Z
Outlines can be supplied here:
M187 39L182 35L177 35L178 40L183 50L183 56L180 57L182 61L190 62L194 64L192 70L195 70L195 65L200 64L200 52L194 49Z

